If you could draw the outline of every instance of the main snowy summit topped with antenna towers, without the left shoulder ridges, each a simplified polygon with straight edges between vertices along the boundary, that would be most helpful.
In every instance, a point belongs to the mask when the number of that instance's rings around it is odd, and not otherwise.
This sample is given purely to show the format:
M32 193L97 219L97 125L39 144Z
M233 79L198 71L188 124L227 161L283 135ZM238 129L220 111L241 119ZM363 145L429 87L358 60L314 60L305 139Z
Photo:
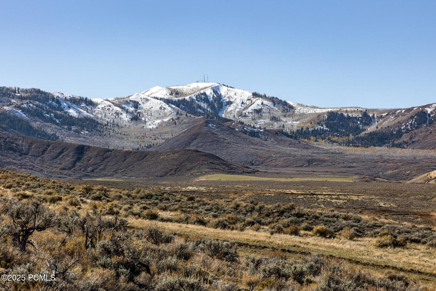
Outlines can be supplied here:
M182 86L156 86L142 92L144 95L174 104L189 113L217 114L233 120L240 120L256 126L293 129L310 123L317 113L343 111L358 114L365 109L319 108L257 92L235 89L220 83L197 82Z

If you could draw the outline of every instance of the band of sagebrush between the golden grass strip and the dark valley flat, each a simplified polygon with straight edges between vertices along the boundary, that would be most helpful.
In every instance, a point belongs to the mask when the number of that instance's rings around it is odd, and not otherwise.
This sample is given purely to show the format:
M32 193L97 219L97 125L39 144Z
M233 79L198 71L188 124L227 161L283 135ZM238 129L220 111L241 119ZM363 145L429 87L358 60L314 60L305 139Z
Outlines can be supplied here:
M271 234L300 235L310 231L323 237L340 236L354 239L379 237L384 231L395 239L409 243L429 244L436 233L429 226L401 225L368 221L361 216L336 211L313 211L294 204L262 204L251 200L235 202L228 196L207 199L187 193L174 193L159 188L133 190L102 186L73 186L31 175L0 169L0 186L14 193L17 199L36 198L52 204L64 203L80 209L88 204L103 215L138 217L160 222L196 224L217 229L252 229ZM166 216L163 213L173 212Z

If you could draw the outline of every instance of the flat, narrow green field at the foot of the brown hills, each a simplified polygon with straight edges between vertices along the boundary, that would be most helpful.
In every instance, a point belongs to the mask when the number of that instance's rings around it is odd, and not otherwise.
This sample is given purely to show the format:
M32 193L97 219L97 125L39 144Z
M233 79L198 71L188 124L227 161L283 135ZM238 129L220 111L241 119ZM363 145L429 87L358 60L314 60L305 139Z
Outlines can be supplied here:
M334 182L354 182L354 178L348 177L305 177L305 178L266 178L266 177L253 177L245 175L226 175L216 174L203 176L199 180L210 181L334 181Z

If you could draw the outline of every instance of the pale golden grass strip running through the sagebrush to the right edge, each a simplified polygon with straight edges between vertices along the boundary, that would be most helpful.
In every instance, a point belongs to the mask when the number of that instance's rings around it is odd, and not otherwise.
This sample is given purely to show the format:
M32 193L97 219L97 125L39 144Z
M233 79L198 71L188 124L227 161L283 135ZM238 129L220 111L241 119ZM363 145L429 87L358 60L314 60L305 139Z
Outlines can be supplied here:
M152 222L144 219L129 219L134 227L145 227ZM211 237L220 240L234 240L239 243L262 245L332 255L353 260L362 264L392 266L405 270L413 269L436 274L436 253L427 246L409 244L405 249L374 246L373 238L359 238L354 241L344 239L324 239L315 236L290 236L245 230L243 232L228 229L212 229L204 226L181 223L158 223L170 232L190 236Z

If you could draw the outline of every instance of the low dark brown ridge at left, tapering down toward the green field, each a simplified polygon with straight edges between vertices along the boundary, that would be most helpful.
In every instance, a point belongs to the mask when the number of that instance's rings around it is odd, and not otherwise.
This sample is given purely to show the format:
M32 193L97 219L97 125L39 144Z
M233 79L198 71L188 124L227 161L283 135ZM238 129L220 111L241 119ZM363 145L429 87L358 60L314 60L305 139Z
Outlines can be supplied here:
M0 167L53 178L164 177L251 173L251 168L195 150L122 151L0 132Z

